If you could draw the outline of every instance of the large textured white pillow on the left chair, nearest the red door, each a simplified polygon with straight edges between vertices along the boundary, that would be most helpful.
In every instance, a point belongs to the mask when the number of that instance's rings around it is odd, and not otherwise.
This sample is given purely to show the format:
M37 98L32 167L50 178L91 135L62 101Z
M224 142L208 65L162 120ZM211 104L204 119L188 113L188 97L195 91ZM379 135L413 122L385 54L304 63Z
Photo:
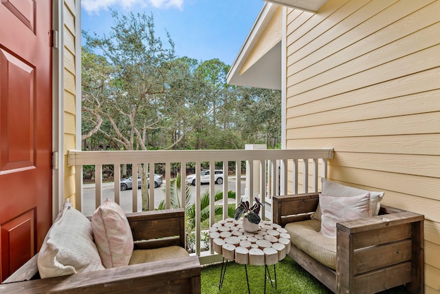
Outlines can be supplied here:
M90 221L70 203L47 232L37 264L42 278L104 269Z

